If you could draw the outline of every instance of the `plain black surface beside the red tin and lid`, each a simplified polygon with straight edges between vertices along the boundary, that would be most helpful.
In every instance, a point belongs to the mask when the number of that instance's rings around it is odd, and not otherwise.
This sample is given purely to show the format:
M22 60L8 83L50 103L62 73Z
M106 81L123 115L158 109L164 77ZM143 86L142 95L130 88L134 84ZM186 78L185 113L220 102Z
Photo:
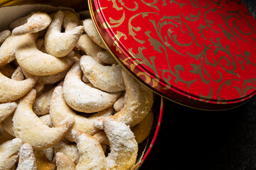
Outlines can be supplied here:
M256 16L256 0L244 0ZM256 170L256 96L228 111L164 101L156 142L140 170Z

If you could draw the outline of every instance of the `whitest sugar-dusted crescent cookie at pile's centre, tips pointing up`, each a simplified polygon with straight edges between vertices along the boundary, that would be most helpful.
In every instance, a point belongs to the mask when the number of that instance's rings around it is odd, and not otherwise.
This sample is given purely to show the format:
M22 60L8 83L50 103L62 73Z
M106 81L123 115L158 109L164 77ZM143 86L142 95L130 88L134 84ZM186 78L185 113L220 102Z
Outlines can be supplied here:
M95 113L109 108L121 95L107 93L82 82L82 70L76 62L65 77L63 84L65 102L75 111Z

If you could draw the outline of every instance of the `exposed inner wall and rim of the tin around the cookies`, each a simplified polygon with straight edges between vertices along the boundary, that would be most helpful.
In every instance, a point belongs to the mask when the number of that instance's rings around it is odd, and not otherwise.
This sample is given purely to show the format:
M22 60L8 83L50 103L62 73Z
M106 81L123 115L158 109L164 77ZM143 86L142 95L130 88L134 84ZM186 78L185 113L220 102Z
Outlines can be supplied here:
M6 8L5 8L6 7ZM9 23L16 18L26 16L32 11L46 11L53 13L58 10L75 10L76 12L87 11L87 1L75 0L75 1L60 1L60 0L41 0L41 1L6 1L0 0L0 31L8 29ZM17 11L16 13L14 11ZM90 13L81 13L81 18L88 17ZM161 115L163 113L164 99L161 96L155 95L153 112L154 123L151 129L149 137L139 144L139 152L137 157L137 164L132 169L139 169L142 163L145 161L149 154L151 147L154 145L158 130L161 124Z

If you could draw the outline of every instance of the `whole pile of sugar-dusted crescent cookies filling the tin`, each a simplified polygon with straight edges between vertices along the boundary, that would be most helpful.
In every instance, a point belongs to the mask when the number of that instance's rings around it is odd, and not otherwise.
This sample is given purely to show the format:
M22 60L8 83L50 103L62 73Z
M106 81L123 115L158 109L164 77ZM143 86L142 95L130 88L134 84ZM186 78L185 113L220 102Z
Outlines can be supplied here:
M0 169L131 169L154 94L91 18L33 12L0 32Z

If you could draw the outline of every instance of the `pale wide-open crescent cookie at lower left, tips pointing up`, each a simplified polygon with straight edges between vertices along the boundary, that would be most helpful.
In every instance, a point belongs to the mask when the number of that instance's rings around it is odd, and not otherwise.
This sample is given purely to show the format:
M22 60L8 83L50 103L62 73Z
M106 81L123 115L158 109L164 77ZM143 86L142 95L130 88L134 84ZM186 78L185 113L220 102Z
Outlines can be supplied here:
M74 123L73 118L65 118L55 128L50 128L43 120L33 113L32 106L36 98L36 90L24 96L14 112L13 130L16 137L30 144L34 149L53 147L68 132Z

